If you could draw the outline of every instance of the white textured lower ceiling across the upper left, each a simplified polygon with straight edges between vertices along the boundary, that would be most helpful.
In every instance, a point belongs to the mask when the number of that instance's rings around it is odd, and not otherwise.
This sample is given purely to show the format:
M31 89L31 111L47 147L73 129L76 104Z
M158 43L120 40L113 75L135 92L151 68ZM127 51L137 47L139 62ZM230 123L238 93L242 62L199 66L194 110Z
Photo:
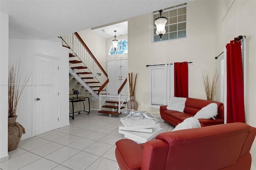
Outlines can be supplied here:
M188 1L0 0L0 10L9 14L10 28L41 39L50 39Z

